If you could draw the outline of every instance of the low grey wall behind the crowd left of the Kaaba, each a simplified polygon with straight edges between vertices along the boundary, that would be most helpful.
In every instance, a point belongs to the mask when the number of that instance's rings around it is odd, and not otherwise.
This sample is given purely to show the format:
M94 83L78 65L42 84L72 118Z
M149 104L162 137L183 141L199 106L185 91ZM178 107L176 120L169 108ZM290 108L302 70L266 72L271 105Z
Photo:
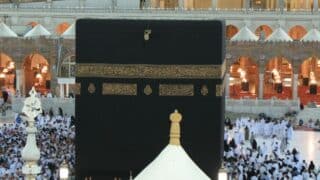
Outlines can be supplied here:
M23 107L25 98L12 98L12 110L13 112L20 113ZM75 99L74 98L40 98L42 103L42 109L48 112L50 109L54 113L58 113L59 107L63 110L63 113L68 115L75 114Z

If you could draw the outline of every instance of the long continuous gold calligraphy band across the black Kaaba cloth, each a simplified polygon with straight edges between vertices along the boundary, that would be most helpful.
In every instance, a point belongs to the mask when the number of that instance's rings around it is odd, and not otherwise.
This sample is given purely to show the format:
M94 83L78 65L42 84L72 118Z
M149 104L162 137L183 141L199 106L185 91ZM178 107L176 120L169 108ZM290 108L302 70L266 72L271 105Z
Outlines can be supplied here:
M147 79L221 79L221 68L221 65L80 63L76 65L76 76Z

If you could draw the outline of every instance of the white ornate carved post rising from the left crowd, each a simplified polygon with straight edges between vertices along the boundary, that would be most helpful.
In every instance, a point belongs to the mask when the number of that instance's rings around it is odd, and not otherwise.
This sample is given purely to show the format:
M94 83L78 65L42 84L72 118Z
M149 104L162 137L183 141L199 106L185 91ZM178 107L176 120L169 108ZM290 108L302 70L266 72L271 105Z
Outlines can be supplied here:
M24 101L22 108L23 119L28 122L27 130L27 143L23 148L21 155L25 161L22 167L22 173L26 176L26 180L34 180L37 174L40 173L41 167L38 166L38 160L40 159L40 150L37 147L36 133L37 128L34 125L34 118L41 113L41 101L36 97L36 90L32 87L29 92L30 97Z

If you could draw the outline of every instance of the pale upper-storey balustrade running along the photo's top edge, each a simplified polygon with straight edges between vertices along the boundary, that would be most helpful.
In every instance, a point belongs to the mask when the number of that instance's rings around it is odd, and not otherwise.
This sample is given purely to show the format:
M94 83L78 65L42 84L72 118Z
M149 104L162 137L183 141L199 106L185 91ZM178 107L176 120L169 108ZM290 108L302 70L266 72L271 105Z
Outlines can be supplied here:
M220 9L220 8L208 8L208 9L162 9L162 8L121 8L121 7L66 7L66 6L27 6L27 7L15 7L14 5L0 5L0 12L21 12L21 13L154 13L154 14L199 14L199 15L210 15L210 14L288 14L288 15L312 15L318 14L317 11L311 9L297 9L297 10L286 10L283 11L277 9Z

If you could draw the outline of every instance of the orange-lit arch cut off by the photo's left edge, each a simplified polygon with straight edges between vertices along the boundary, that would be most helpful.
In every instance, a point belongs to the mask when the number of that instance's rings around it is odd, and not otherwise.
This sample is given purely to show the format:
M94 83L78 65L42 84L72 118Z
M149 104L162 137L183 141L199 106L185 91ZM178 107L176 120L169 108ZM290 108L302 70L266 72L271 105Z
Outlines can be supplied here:
M0 53L0 87L15 92L15 63L10 56Z

